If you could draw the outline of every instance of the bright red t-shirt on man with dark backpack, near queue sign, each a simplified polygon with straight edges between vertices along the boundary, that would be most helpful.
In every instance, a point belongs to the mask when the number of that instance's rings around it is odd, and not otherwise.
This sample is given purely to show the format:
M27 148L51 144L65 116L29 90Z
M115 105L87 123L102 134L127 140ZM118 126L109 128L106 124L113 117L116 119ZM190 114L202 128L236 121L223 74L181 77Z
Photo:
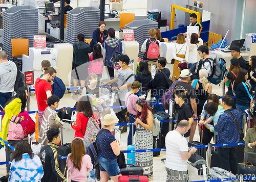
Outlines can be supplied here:
M37 108L39 111L45 111L48 107L47 105L47 95L46 91L50 90L52 93L52 87L49 82L38 77L35 81L35 95L37 101Z

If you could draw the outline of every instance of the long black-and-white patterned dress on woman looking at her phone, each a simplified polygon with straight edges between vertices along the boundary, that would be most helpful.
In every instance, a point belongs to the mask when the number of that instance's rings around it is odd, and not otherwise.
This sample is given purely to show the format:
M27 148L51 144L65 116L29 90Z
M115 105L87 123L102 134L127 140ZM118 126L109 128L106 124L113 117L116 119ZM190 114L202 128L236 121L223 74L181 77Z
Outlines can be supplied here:
M152 114L151 112L147 114ZM141 117L139 117L141 119ZM153 134L152 131L138 124L135 138L135 150L152 149ZM135 164L140 165L144 175L153 174L153 152L136 152Z

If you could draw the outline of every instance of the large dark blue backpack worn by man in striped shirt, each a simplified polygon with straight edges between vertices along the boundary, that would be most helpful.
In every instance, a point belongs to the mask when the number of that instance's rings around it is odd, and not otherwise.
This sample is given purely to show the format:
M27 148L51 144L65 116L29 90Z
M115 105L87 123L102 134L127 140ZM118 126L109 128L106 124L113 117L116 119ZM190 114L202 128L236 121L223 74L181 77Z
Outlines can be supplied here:
M218 85L223 80L226 71L226 61L222 58L215 58L213 63L214 69L212 70L210 82Z

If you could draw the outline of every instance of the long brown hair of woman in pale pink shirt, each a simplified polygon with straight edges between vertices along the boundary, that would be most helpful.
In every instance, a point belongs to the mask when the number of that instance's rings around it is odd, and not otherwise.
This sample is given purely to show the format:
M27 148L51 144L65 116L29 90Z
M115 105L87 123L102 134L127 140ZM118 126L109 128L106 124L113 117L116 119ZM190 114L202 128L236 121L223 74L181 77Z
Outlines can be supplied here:
M79 171L81 169L82 157L86 155L86 150L84 150L83 141L79 138L75 138L71 142L71 154L69 159L73 162L75 168Z

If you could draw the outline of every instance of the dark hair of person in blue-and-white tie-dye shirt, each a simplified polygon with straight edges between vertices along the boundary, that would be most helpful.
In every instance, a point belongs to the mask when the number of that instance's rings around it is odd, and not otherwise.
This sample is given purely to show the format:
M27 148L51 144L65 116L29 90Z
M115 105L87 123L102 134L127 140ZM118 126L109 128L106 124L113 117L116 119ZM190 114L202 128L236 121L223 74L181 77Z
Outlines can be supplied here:
M22 160L22 154L28 153L30 159L33 159L34 153L27 141L18 142L17 146L15 147L15 151L13 153L13 158L15 162Z

